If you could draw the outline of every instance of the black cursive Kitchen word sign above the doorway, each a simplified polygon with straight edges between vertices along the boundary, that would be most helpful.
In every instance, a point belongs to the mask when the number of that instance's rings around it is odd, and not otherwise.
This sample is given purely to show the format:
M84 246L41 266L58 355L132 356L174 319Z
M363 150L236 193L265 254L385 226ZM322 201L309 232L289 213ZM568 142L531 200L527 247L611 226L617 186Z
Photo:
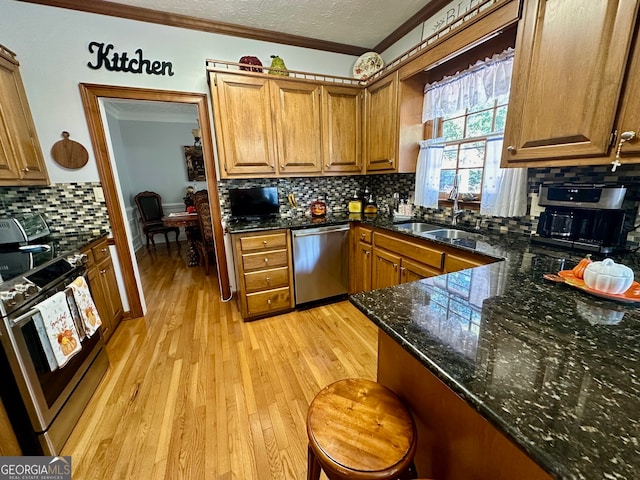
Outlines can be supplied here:
M159 60L147 60L142 49L139 48L129 58L127 52L114 52L113 44L100 42L89 43L89 52L95 53L95 63L88 62L87 66L93 70L106 68L110 72L146 73L148 75L173 76L173 64Z

